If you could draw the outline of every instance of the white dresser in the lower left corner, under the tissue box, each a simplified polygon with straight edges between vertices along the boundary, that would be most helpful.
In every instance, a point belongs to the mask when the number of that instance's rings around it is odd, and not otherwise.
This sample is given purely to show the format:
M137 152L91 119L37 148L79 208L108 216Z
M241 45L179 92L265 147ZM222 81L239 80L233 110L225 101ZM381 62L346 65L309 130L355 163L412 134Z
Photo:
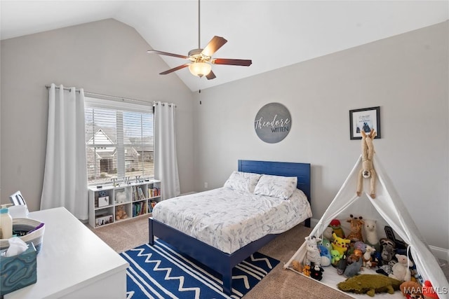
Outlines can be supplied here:
M65 208L29 213L45 223L37 283L10 298L126 298L128 263Z

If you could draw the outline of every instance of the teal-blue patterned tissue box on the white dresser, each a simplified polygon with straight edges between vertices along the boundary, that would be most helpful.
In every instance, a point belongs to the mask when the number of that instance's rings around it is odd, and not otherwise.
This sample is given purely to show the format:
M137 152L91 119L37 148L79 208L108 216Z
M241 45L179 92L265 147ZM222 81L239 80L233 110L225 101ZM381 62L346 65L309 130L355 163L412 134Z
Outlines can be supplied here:
M36 284L36 248L29 244L28 249L18 256L3 256L0 251L0 296L30 284Z

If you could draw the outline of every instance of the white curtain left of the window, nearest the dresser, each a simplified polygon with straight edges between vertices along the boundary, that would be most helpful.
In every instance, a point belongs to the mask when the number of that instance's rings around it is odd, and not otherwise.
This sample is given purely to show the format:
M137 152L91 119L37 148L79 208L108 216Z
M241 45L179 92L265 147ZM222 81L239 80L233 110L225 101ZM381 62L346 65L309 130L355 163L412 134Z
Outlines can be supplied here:
M88 219L84 92L51 84L41 209L65 207Z

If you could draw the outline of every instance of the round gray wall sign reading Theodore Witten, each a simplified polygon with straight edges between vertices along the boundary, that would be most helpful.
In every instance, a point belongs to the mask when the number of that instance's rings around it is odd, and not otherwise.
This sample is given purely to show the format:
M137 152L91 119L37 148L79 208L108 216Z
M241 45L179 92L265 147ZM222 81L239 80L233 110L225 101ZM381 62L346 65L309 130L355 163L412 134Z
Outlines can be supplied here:
M275 144L286 138L292 126L292 118L286 106L269 103L263 106L254 120L257 136L269 144Z

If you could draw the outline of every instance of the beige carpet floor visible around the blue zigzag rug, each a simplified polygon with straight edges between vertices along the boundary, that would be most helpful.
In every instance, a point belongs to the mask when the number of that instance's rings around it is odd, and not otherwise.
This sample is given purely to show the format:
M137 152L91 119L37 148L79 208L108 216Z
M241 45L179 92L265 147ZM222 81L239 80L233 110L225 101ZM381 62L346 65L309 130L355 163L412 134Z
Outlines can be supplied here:
M88 227L91 228L90 226ZM91 228L91 230L119 253L148 242L147 216L121 221L103 228ZM260 249L261 253L276 258L281 263L246 294L244 296L245 299L351 298L349 295L344 295L340 291L323 286L323 284L312 279L283 269L283 265L290 260L310 231L310 228L306 228L302 224L297 225ZM446 277L449 277L448 263L442 263L442 265Z

